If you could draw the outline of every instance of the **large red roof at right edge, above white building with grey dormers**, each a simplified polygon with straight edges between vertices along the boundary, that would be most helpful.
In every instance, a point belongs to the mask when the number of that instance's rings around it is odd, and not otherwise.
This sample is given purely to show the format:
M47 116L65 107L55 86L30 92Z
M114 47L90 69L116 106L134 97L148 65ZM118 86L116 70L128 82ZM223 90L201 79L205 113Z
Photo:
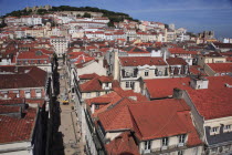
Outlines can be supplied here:
M204 120L232 116L232 89L188 90L187 92Z

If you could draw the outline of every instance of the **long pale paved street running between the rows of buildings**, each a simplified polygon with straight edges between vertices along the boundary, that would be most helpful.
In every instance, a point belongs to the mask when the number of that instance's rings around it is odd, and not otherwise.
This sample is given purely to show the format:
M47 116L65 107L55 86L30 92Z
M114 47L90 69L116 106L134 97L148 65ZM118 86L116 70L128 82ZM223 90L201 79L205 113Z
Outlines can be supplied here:
M60 104L60 126L57 136L61 136L60 142L54 142L54 155L84 155L84 146L80 142L80 128L76 122L74 103L68 101L68 104L63 104L64 95L67 93L67 83L64 72L64 66L60 73L60 95L57 103ZM68 100L68 99L67 99ZM55 135L56 136L56 135ZM57 144L56 144L57 143ZM61 144L62 143L62 144Z

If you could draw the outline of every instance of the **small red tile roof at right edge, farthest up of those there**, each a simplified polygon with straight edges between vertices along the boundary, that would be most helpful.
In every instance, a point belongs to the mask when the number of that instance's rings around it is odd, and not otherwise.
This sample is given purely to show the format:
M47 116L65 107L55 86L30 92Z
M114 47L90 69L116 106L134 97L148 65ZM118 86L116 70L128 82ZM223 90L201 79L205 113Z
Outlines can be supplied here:
M232 72L232 63L207 63L217 73Z

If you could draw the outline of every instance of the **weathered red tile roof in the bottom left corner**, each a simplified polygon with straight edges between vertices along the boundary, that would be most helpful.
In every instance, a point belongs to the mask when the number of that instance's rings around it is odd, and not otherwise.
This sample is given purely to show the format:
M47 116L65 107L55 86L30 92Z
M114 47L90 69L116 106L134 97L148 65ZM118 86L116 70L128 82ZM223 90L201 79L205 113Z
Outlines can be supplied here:
M0 144L30 141L36 117L36 110L29 107L23 118L0 115Z

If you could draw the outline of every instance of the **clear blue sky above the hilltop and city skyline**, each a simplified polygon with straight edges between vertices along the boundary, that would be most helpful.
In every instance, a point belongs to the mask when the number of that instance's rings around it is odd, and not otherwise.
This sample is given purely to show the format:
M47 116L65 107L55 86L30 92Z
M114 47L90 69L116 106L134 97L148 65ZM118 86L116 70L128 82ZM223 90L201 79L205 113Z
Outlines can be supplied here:
M218 38L232 38L232 0L0 0L0 14L44 4L97 7L139 20L175 23L191 32L214 30Z

